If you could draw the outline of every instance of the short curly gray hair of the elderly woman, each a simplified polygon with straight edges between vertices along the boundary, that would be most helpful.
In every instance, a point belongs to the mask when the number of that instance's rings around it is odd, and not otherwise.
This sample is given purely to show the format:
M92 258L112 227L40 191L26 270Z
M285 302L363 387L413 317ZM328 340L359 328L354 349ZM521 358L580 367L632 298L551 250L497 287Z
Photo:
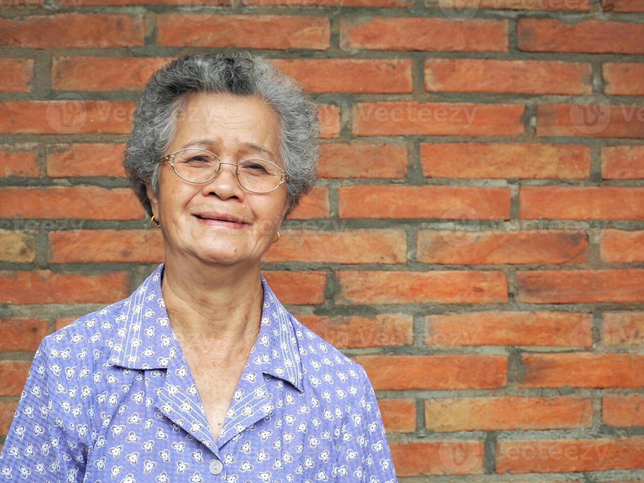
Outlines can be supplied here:
M245 50L178 57L156 71L133 115L123 165L147 214L149 183L158 196L158 168L176 132L176 118L190 93L231 93L265 100L279 118L279 154L289 175L288 215L317 180L320 122L317 106L302 86L269 61Z

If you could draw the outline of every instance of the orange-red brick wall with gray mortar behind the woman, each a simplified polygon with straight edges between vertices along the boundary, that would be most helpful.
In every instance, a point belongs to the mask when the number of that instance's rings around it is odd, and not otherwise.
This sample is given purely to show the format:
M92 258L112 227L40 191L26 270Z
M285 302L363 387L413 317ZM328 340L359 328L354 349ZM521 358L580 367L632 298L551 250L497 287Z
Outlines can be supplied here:
M42 337L162 260L142 86L232 45L319 104L263 269L365 366L401 480L641 478L644 1L39 1L1 3L0 433Z

